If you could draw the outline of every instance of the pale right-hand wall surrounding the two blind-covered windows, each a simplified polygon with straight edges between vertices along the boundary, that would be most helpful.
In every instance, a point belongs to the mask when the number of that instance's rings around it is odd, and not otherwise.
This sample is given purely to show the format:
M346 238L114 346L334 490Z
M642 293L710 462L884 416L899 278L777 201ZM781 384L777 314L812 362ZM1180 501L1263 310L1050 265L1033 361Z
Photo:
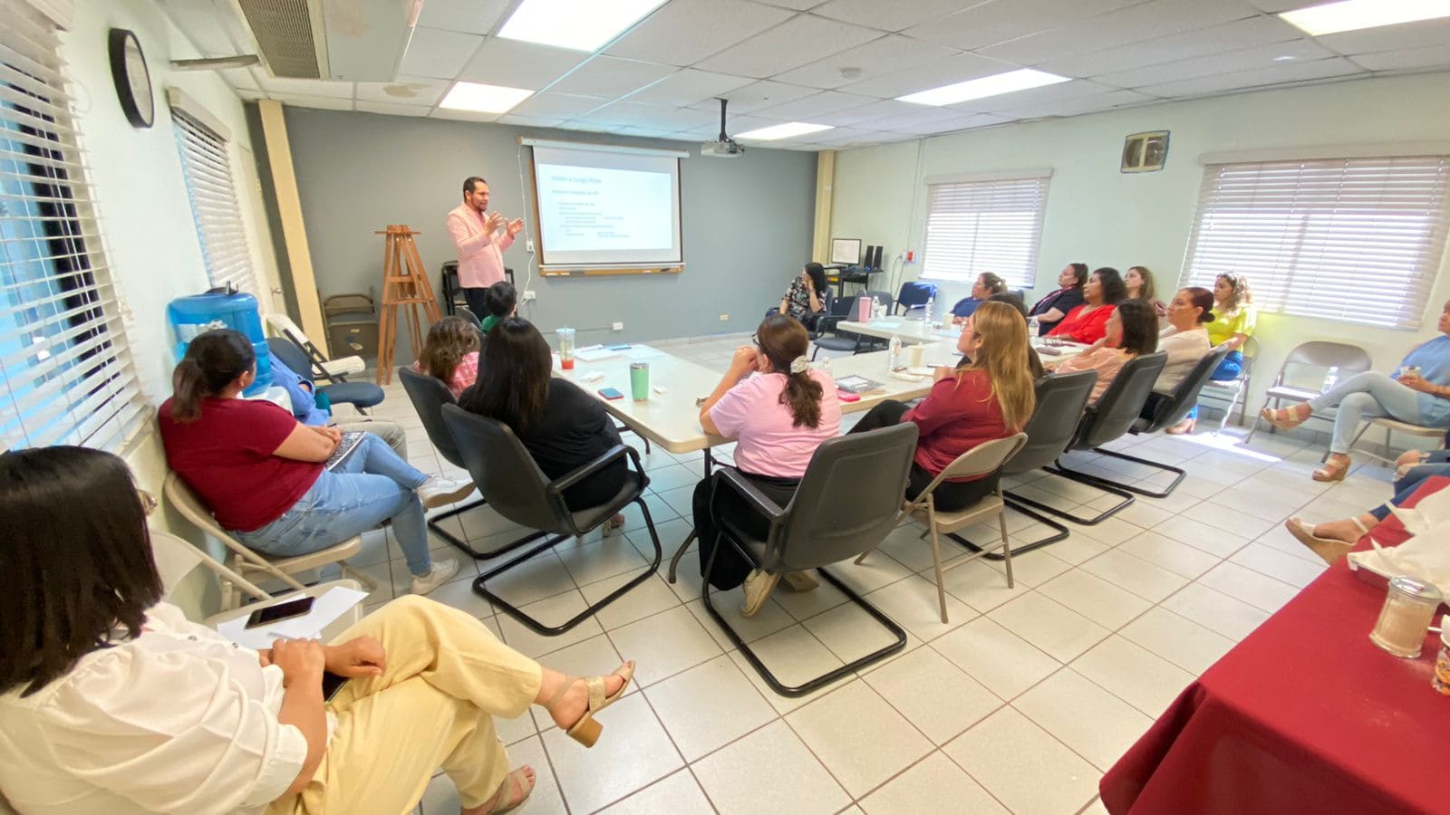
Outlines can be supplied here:
M1005 125L837 155L832 233L884 244L886 257L918 251L925 229L925 183L931 175L1051 167L1037 287L1056 287L1067 262L1154 270L1160 289L1174 286L1188 248L1205 152L1320 145L1450 141L1450 74L1386 77L1262 91L1098 113L1072 119ZM1167 167L1122 174L1122 138L1172 131ZM912 203L915 193L915 206ZM915 278L919 262L905 267ZM1405 349L1434 332L1436 313L1450 299L1441 262L1418 334L1333 320L1263 315L1256 338L1260 358L1251 403L1288 351L1308 339L1338 339L1369 349L1389 370ZM899 284L899 283L898 283ZM884 286L882 286L884 287ZM970 286L947 286L950 303Z

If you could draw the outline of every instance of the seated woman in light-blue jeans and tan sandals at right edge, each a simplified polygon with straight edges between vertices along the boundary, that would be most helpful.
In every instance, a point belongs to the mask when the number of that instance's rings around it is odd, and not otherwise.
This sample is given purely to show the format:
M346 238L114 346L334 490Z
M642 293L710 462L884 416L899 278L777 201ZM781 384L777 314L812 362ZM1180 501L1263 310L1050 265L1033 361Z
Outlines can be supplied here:
M1425 428L1450 428L1450 303L1440 312L1440 336L1421 342L1399 361L1399 374L1366 371L1343 380L1320 396L1292 408L1260 413L1279 429L1298 428L1311 413L1334 408L1330 458L1314 471L1315 481L1341 481L1350 468L1350 442L1360 421L1389 416Z

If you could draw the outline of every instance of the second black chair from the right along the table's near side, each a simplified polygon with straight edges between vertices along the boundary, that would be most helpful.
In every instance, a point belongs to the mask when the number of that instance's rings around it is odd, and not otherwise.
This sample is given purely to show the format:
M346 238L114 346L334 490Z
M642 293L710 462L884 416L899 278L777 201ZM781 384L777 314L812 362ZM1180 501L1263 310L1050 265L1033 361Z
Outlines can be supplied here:
M1163 351L1143 354L1128 360L1128 363L1122 365L1122 370L1118 371L1118 376L1112 378L1112 384L1108 386L1108 390L1098 397L1098 402L1088 406L1083 418L1077 422L1077 432L1073 434L1073 441L1067 445L1067 451L1095 450L1128 432L1128 428L1131 428L1143 413L1143 406L1147 405L1148 394L1153 393L1153 383L1157 381L1159 374L1163 373L1163 365L1167 364L1167 361L1169 355ZM1016 502L1085 526L1102 524L1108 518L1112 518L1132 505L1132 493L1111 486L1096 476L1063 467L1061 460L1051 467L1045 467L1045 470L1054 476L1061 476L1082 484L1098 487L1099 490L1118 496L1122 500L1092 518L1063 512L1056 506L1048 506L1021 496L1015 497ZM1021 551L1021 548L1018 551Z

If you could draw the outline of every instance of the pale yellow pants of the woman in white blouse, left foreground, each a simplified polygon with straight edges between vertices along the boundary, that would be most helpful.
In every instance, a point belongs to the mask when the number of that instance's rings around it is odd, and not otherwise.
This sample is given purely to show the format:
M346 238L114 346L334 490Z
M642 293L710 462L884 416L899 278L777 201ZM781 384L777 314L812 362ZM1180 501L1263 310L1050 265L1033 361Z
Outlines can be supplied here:
M542 669L467 613L416 596L399 597L347 629L336 642L373 637L387 669L354 679L328 703L338 728L318 774L268 815L403 814L442 767L463 806L493 798L509 756L493 716L523 715Z

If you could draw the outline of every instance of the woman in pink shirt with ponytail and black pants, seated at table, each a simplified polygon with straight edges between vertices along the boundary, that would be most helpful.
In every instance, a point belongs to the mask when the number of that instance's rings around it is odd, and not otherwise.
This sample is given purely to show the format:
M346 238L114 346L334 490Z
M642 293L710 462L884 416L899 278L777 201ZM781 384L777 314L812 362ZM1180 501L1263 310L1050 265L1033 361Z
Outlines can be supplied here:
M809 347L811 339L799 320L767 316L755 329L754 344L735 349L729 370L700 408L705 432L735 439L735 468L780 506L796 495L816 447L841 434L835 380L811 368ZM718 537L710 519L710 493L715 492L710 481L703 479L695 487L702 576ZM760 537L767 534L766 519L735 493L719 490L716 502L716 512L729 516L741 529ZM763 571L751 573L750 561L726 545L715 557L710 586L725 592L745 582L747 574L755 582L777 579ZM815 580L805 574L787 574L787 583L799 590L815 587ZM747 587L747 597L757 596L763 602L767 595L766 587ZM741 613L751 616L757 611L760 603L747 605Z

